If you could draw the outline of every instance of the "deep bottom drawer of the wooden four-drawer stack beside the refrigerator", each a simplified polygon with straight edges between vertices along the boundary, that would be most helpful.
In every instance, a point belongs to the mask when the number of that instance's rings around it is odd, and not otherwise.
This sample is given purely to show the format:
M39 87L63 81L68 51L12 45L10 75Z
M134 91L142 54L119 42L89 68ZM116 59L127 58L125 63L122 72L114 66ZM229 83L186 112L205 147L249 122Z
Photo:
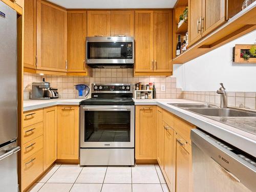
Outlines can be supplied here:
M23 189L31 184L43 172L42 149L22 162Z

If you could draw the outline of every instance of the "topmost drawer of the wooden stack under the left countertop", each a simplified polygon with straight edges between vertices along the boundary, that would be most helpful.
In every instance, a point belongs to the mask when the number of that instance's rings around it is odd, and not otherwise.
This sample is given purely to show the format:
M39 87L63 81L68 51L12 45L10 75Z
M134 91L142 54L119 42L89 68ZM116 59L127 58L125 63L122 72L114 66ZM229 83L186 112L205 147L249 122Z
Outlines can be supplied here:
M23 113L23 127L41 122L43 119L42 110Z

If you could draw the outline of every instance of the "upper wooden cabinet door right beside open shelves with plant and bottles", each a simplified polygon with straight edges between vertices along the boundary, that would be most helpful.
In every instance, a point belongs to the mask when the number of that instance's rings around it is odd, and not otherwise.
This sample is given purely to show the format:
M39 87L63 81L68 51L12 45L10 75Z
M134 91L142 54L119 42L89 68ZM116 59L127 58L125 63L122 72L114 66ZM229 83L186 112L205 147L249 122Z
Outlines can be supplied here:
M189 46L194 44L202 37L201 18L202 18L202 0L188 1L188 40Z

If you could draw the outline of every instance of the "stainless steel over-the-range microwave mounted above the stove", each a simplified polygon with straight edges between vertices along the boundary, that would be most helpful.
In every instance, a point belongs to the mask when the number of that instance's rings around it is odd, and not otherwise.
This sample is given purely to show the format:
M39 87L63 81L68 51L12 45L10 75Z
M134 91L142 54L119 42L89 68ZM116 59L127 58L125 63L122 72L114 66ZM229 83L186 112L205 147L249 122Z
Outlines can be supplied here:
M86 37L86 48L92 68L133 68L134 37Z

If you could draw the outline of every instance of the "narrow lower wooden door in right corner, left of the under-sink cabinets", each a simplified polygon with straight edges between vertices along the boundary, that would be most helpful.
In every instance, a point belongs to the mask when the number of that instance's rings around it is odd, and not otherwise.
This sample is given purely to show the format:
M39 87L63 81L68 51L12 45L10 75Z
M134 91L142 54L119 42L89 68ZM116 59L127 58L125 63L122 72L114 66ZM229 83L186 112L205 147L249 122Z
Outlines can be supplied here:
M164 165L164 129L163 129L163 110L157 107L157 161L163 169Z

